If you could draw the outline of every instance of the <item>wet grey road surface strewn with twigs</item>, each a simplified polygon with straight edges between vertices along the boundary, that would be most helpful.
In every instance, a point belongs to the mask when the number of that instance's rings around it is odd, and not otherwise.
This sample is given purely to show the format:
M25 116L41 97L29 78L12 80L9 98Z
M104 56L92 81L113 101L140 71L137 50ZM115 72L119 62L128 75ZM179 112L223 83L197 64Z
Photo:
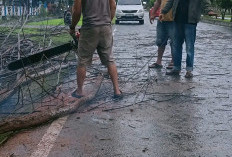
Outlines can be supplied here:
M169 46L164 68L148 69L157 56L156 27L147 14L145 21L114 27L123 100L112 100L106 78L94 101L21 131L0 147L0 156L232 156L231 28L199 23L194 78L185 79L185 53L181 76L165 76Z

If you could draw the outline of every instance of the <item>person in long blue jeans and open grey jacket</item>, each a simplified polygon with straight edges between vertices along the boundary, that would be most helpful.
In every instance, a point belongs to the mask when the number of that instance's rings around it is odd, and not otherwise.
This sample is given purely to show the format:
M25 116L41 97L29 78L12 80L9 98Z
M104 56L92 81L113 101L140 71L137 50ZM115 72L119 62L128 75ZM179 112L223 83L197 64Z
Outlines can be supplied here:
M168 0L161 10L160 20L173 9L174 18L174 40L173 60L174 67L167 75L179 75L182 61L182 45L186 43L186 78L192 78L194 63L194 44L196 40L196 27L201 17L202 7L209 15L215 15L210 9L210 0Z

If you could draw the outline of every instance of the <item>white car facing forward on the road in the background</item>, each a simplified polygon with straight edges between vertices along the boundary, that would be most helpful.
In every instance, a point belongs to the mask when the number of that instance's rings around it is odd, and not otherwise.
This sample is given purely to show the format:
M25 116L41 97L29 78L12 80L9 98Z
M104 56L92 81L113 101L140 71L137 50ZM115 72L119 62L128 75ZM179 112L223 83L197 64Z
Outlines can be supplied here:
M144 9L141 0L118 0L116 24L120 21L139 21L144 24Z

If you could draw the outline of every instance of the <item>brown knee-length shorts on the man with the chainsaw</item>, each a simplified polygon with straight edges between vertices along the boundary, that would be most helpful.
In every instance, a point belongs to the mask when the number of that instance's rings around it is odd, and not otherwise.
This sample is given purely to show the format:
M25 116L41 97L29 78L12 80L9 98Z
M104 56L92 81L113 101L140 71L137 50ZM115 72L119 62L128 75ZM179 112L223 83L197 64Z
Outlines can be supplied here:
M81 29L77 51L77 65L90 66L95 50L103 65L114 63L113 58L113 35L111 25L97 26Z

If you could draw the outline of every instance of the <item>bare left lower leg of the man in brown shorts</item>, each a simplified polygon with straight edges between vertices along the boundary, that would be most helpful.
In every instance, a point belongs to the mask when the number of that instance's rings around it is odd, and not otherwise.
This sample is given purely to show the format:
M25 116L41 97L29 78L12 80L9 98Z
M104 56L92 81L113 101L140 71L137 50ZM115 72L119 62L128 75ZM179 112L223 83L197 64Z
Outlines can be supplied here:
M84 95L83 94L83 85L86 77L86 67L77 67L77 90L76 94L79 96Z

